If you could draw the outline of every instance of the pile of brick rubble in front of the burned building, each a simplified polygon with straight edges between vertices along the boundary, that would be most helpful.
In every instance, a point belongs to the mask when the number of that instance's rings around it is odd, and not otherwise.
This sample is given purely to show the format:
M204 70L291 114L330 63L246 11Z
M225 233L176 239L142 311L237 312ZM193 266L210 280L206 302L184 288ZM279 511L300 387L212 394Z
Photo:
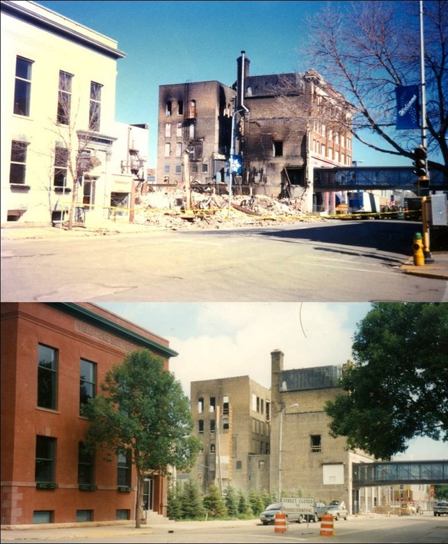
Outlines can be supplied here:
M269 196L233 196L191 191L149 192L136 199L134 224L162 228L235 228L323 222L324 218L300 211L296 199L275 200Z

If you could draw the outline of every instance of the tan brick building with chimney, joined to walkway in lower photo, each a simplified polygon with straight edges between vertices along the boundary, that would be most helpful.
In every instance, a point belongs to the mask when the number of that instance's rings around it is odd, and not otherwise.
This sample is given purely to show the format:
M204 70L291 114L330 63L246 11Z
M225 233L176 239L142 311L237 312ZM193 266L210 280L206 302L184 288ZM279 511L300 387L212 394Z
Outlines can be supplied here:
M337 383L343 366L285 371L283 359L280 350L271 352L271 492L280 481L286 496L300 492L326 504L344 500L349 513L371 511L381 504L381 488L353 488L352 464L374 458L347 450L344 437L330 437L330 418L323 410L342 392Z

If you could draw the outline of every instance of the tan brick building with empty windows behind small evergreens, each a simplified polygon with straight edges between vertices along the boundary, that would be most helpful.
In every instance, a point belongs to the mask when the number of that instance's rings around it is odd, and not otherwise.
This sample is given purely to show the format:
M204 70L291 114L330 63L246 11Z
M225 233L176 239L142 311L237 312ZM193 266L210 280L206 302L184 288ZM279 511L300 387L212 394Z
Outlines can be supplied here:
M271 391L248 376L191 382L191 412L203 445L191 478L201 490L268 490Z

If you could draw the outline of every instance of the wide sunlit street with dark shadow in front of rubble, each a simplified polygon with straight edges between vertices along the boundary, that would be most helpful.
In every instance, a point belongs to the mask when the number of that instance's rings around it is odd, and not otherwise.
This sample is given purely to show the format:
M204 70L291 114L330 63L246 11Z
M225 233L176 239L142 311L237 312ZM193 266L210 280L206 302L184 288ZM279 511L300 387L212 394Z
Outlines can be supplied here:
M448 301L403 274L418 224L326 222L2 240L3 302Z

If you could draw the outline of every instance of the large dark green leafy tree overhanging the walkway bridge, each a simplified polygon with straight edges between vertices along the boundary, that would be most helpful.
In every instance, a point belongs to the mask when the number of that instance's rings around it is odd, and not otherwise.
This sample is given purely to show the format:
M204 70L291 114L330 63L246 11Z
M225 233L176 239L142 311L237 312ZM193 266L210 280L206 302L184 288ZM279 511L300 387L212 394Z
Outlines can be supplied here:
M386 460L413 437L448 440L448 304L375 303L352 349L346 394L325 406L333 437Z

